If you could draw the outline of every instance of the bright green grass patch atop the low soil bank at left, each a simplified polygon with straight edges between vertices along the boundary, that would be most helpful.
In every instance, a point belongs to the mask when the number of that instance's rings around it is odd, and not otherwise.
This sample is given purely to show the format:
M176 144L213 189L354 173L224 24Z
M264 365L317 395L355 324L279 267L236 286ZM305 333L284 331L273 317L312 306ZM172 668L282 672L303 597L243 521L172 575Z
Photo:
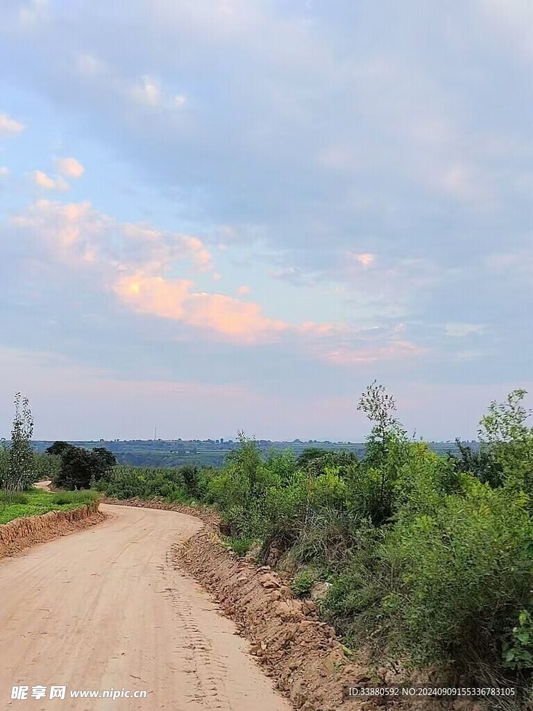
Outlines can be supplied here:
M48 511L68 511L92 503L98 496L95 491L0 491L0 524Z

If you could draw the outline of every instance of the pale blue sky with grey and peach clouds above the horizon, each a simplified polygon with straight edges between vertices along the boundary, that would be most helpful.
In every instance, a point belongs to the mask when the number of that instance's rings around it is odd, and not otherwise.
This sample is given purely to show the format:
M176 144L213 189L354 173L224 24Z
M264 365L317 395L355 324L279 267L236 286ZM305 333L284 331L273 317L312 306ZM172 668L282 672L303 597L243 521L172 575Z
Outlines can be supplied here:
M0 436L425 439L533 387L530 0L0 0Z

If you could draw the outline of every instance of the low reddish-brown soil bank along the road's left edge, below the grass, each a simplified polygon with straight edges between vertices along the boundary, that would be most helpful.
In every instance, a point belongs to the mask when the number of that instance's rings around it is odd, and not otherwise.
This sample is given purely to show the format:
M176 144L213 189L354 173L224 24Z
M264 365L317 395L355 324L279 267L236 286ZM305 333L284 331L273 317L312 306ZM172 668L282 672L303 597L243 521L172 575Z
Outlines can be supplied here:
M68 511L48 511L0 525L0 558L99 523L105 517L98 506L95 501Z

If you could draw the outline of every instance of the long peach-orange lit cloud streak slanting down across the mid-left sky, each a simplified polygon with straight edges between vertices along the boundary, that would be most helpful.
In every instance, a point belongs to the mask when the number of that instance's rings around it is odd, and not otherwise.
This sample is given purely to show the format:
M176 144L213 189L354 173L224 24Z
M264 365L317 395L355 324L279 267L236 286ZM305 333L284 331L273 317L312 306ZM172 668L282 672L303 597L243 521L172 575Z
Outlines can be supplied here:
M355 362L348 347L332 350L338 338L350 342L348 324L290 323L266 315L262 304L198 289L197 279L212 269L210 252L199 237L119 223L89 202L36 201L11 218L10 224L25 244L28 237L33 239L30 251L38 262L67 264L69 276L78 270L92 288L114 295L134 314L176 321L212 338L242 345L283 338L313 357L332 363ZM39 249L45 250L45 257ZM249 289L239 291L245 296ZM318 343L322 344L319 348ZM408 350L404 346L403 353L407 355ZM399 344L394 352L399 353ZM388 357L387 348L381 353Z

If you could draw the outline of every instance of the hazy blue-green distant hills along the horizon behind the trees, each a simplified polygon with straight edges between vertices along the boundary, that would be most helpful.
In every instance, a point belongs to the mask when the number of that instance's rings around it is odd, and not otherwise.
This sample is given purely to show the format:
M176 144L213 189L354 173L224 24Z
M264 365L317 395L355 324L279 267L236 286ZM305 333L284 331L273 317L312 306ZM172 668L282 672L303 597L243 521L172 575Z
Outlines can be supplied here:
M37 451L45 451L52 442L33 442ZM235 440L220 439L131 439L107 442L104 439L91 442L71 442L76 447L106 447L112 451L119 464L130 466L161 466L171 467L181 464L197 464L198 466L221 466L227 453L239 446ZM258 439L259 448L267 454L271 449L282 451L291 449L298 456L308 447L318 447L334 451L355 451L357 456L365 454L365 444L362 442L318 442L316 440L301 442L271 442L268 439ZM477 450L478 442L465 442L467 447ZM455 442L429 442L429 448L437 454L456 452Z

